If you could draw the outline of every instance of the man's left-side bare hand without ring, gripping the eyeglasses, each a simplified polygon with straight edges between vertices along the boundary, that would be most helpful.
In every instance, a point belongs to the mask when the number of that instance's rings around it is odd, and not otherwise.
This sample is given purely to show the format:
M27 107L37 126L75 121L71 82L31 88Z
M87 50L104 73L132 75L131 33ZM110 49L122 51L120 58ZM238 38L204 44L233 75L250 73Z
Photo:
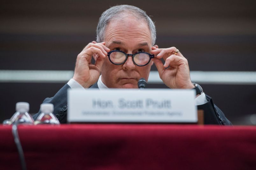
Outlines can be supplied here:
M100 76L104 58L109 51L110 49L105 46L105 42L89 43L76 58L73 79L84 88L89 88L96 83ZM95 64L91 63L92 56L96 61Z

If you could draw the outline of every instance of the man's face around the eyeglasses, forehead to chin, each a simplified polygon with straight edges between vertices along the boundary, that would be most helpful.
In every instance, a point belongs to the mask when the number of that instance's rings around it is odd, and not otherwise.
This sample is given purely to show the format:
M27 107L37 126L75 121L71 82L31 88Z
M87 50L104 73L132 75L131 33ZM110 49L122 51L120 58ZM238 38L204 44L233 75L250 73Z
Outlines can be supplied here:
M146 24L133 17L123 21L111 21L105 31L106 47L110 50L121 50L126 54L151 51L151 33ZM128 56L122 65L114 65L106 57L103 63L102 81L108 88L138 88L140 78L148 80L151 61L146 66L137 66Z

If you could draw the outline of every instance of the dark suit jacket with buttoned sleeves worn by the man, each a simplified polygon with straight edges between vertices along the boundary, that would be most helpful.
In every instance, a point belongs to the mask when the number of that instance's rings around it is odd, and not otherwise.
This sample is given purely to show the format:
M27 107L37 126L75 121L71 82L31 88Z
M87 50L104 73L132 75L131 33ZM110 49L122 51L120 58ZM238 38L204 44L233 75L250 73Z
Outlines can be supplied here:
M65 84L53 97L46 98L43 103L52 103L54 105L53 114L59 119L60 123L67 123L67 90L70 88ZM90 88L99 88L97 83ZM225 117L224 113L213 103L211 97L206 95L207 103L197 106L198 109L204 110L204 124L232 125ZM34 120L39 113L33 116Z

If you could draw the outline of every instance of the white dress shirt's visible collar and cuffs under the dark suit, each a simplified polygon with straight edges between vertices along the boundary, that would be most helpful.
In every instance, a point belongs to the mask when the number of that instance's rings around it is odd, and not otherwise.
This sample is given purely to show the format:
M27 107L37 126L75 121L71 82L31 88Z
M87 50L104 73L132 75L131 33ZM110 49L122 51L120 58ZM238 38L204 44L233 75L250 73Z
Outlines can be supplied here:
M74 79L70 79L67 84L70 86L70 88L80 88L80 89L84 89L84 88L82 87L82 85L79 84L79 83L78 83L77 81L75 81ZM108 87L102 82L102 80L101 80L101 75L100 75L100 77L99 77L99 80L98 80L98 82L97 82L97 85L98 85L99 89L108 88ZM194 100L194 103L195 103L196 106L207 103L207 99L206 99L205 94L202 93L201 95L197 96L197 97L195 98L195 100Z

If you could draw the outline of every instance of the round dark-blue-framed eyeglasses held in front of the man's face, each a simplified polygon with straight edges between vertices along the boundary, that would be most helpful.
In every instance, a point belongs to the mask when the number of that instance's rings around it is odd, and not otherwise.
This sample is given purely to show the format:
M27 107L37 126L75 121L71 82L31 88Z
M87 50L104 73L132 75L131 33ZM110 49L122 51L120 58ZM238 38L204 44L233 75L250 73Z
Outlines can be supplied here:
M113 50L108 52L110 62L115 65L124 64L128 56L132 56L132 61L137 66L146 66L150 62L151 58L154 58L154 55L146 52L139 52L136 54L126 54L123 51L119 50Z

